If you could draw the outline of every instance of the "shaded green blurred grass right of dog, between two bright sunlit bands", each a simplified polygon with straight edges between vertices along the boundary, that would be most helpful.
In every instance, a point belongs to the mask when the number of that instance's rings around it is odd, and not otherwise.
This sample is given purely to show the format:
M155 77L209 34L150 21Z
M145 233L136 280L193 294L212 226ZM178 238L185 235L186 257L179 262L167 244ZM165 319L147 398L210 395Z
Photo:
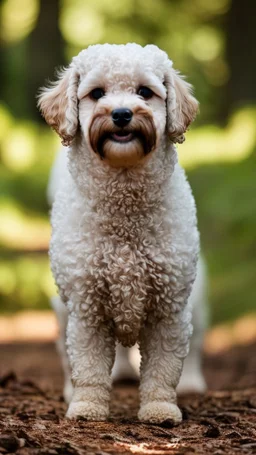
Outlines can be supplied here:
M209 271L212 322L255 311L256 153L189 172Z

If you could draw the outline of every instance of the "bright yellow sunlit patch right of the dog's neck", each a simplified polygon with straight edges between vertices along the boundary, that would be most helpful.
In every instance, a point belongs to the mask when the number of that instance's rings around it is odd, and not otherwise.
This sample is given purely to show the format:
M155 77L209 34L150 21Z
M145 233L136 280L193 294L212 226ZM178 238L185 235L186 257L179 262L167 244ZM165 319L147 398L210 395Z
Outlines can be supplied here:
M247 158L256 144L256 109L244 108L231 117L226 128L198 127L179 147L181 164L187 169L202 164L228 163Z

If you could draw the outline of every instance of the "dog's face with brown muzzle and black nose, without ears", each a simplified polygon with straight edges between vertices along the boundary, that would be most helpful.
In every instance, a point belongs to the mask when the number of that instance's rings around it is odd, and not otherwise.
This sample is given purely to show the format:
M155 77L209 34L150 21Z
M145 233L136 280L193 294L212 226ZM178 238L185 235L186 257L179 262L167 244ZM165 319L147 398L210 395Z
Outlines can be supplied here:
M126 51L126 52L125 52ZM114 167L130 167L152 152L166 124L166 90L153 71L124 47L97 59L78 91L79 121L92 150Z

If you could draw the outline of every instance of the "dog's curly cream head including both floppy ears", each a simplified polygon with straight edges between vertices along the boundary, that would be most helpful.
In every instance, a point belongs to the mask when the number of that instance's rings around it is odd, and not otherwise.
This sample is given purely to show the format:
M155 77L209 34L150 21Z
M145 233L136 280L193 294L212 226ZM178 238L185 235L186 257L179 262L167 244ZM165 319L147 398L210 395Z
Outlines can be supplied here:
M131 167L167 137L183 142L198 103L156 46L95 45L43 89L39 107L64 145L80 131L113 167Z

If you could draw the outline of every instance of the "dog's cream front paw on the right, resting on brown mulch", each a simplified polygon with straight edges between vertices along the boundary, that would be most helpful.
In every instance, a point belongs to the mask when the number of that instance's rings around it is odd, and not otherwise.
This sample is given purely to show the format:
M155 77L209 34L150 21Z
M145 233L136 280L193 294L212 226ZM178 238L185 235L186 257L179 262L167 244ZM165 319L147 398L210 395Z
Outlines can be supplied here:
M178 406L167 401L152 401L141 406L138 417L142 422L158 424L168 420L176 425L182 421L182 414Z

